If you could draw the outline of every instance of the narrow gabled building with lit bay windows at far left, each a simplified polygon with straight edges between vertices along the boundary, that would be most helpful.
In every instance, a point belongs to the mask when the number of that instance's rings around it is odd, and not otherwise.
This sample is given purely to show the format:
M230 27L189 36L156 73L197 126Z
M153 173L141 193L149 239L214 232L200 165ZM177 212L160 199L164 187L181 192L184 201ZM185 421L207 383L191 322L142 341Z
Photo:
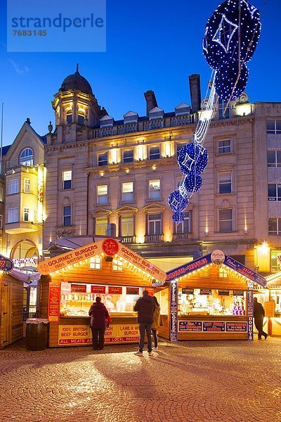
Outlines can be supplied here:
M44 224L44 138L22 125L13 144L3 148L1 253L15 267L37 270Z

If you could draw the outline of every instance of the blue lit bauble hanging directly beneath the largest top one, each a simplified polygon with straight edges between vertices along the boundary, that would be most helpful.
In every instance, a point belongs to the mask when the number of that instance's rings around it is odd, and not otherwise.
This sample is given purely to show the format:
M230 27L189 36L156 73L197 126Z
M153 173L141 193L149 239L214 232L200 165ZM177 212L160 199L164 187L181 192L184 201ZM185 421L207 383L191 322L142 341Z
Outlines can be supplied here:
M242 66L239 75L239 63L229 63L216 72L216 94L223 101L228 101L230 97L232 100L239 98L247 85L248 77L247 65Z

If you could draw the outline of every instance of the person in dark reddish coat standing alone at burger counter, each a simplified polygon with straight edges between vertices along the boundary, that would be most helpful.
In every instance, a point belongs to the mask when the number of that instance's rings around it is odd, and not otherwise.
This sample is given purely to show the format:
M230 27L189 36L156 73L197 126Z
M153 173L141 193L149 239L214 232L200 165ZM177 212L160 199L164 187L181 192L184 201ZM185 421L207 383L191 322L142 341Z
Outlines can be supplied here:
M93 335L93 350L102 350L105 340L105 328L109 326L110 314L99 297L89 310L91 330Z

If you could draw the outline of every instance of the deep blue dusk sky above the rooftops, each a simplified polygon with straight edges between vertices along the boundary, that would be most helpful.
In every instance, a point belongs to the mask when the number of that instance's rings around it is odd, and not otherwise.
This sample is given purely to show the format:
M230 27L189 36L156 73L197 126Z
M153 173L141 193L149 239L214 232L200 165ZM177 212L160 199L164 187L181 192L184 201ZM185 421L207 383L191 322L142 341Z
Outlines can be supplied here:
M12 0L8 0L12 1ZM51 101L63 79L75 72L89 80L100 106L115 118L129 110L145 115L148 89L167 113L190 103L188 75L201 75L202 97L211 69L202 55L207 19L219 0L107 0L105 53L7 53L6 1L0 13L0 102L4 102L4 145L13 142L30 117L41 135L54 121ZM67 1L59 1L60 6ZM83 7L83 2L77 2ZM249 101L281 101L280 0L256 0L263 23L249 62ZM63 10L63 7L60 7ZM70 39L71 43L71 39Z

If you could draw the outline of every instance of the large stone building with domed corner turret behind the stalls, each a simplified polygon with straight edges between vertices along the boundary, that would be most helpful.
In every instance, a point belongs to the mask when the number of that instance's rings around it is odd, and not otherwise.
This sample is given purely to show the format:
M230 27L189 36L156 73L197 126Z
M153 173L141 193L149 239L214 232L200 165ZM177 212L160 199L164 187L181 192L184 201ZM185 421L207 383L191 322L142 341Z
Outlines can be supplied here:
M147 91L145 116L124 110L115 121L78 69L65 78L46 136L44 250L64 236L105 235L115 224L117 237L163 269L214 249L259 271L273 262L277 269L281 103L249 103L243 94L227 110L216 104L202 189L182 224L171 218L167 199L181 180L176 155L192 141L204 101L199 76L189 79L191 106L165 113Z

